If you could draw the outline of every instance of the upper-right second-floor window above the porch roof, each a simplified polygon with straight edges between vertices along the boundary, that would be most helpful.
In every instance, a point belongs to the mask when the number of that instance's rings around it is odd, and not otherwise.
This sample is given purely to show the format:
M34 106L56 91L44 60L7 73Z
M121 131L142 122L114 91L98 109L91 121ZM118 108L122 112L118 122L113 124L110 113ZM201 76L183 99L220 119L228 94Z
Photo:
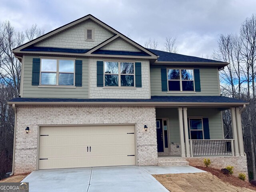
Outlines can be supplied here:
M194 91L193 69L168 69L169 91Z

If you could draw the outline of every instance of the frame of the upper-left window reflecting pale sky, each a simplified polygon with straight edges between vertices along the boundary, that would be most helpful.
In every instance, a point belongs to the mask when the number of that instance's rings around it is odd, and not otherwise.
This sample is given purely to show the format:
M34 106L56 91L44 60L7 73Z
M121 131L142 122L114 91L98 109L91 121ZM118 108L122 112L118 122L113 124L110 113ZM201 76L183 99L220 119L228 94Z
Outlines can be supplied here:
M42 60L56 60L57 66L56 71L42 71ZM59 61L60 60L72 60L74 61L74 72L60 72L59 71ZM76 61L74 59L62 59L62 58L40 58L40 78L39 78L39 86L59 86L59 87L75 87L75 71L76 71ZM56 85L52 84L41 84L41 74L42 73L56 73ZM68 73L68 74L74 74L74 82L73 85L59 85L59 74L60 73Z

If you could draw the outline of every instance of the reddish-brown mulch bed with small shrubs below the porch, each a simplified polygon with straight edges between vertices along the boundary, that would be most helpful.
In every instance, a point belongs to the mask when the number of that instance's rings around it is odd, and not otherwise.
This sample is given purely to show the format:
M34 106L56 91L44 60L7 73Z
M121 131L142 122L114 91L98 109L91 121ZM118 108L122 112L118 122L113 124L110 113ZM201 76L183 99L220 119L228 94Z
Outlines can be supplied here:
M223 182L227 182L229 184L232 184L236 187L245 187L249 188L252 190L256 190L256 187L252 186L248 181L243 181L239 179L237 176L233 175L224 175L219 169L214 169L210 167L200 167L200 166L195 166L198 169L210 172L211 174L215 175L219 179L221 179Z

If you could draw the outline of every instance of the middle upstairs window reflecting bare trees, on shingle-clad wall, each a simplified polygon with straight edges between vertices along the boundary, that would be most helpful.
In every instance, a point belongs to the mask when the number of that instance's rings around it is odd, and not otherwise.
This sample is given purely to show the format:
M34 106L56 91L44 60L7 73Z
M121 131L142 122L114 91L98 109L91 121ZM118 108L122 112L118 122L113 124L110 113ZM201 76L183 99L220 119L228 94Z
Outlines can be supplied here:
M133 62L104 62L105 86L134 87Z

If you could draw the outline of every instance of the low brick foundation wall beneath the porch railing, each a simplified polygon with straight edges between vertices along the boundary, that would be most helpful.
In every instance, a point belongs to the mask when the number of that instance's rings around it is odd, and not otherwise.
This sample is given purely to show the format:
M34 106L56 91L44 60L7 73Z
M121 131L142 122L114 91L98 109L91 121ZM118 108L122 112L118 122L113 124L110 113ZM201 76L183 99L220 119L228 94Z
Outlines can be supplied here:
M192 157L186 158L191 166L204 166L203 159L210 158L212 168L222 169L226 166L234 166L234 175L245 173L248 176L246 156L226 156L226 157Z

